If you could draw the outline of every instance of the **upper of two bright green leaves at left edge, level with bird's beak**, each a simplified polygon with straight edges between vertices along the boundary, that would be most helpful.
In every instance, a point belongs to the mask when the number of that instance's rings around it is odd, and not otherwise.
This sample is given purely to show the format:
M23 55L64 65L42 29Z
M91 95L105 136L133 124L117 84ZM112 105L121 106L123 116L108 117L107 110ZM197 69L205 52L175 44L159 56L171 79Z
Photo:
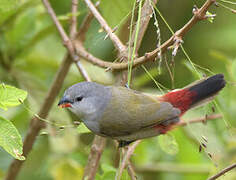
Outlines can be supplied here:
M8 107L21 104L27 97L27 92L13 86L0 84L0 108L7 110Z

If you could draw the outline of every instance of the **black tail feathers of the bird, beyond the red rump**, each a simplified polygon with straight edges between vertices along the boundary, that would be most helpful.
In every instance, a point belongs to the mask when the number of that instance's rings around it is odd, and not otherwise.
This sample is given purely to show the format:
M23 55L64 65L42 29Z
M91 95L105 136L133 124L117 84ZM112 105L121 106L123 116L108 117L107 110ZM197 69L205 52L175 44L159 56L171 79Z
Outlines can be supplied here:
M211 100L221 89L225 87L223 74L216 74L199 82L187 89L195 94L192 99L191 106L196 106L204 103L208 99Z

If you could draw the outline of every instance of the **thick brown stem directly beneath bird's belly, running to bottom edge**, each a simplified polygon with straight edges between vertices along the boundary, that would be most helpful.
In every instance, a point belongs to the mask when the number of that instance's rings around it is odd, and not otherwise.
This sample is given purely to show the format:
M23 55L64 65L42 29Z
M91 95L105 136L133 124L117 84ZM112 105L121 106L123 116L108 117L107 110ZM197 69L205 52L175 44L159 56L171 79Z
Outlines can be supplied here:
M95 135L91 146L88 163L84 170L83 179L93 180L95 178L101 155L106 144L106 139Z

